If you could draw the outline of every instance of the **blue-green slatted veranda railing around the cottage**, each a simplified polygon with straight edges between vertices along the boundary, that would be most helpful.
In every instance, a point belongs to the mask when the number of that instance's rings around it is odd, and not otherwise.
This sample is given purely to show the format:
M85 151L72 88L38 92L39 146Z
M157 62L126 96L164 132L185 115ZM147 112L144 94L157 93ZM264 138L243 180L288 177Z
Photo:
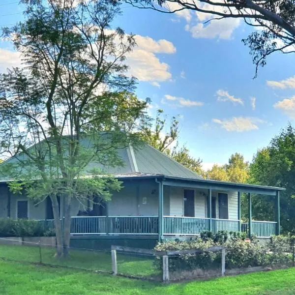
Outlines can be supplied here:
M39 220L46 229L54 229L54 220ZM72 235L157 235L158 216L75 216L71 219ZM164 216L163 234L166 236L198 236L211 230L238 232L238 220L209 219L199 217ZM248 225L242 224L247 232ZM269 237L276 233L276 222L252 221L252 233Z

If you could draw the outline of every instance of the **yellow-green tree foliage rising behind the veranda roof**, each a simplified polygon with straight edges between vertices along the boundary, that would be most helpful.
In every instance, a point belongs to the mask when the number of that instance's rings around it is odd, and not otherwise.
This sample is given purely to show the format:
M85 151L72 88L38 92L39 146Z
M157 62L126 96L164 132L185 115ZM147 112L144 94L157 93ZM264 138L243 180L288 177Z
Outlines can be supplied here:
M214 180L246 183L249 178L249 164L245 162L241 154L235 153L229 158L228 164L213 165L207 172L207 177Z

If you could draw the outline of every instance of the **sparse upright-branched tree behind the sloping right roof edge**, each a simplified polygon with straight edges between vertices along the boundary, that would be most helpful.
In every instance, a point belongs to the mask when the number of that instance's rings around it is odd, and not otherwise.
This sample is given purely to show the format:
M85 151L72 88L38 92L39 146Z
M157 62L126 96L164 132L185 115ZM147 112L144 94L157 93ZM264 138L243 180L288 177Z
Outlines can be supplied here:
M154 120L150 118L145 121L146 125L141 130L142 140L161 152L164 152L191 171L203 175L202 160L190 156L189 149L185 146L181 148L178 146L179 122L177 118L172 117L168 127L169 131L166 132L167 121L166 116L163 118L163 115L163 110L157 110ZM173 145L174 147L172 147Z

